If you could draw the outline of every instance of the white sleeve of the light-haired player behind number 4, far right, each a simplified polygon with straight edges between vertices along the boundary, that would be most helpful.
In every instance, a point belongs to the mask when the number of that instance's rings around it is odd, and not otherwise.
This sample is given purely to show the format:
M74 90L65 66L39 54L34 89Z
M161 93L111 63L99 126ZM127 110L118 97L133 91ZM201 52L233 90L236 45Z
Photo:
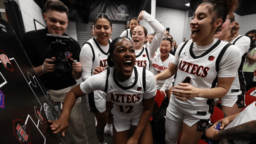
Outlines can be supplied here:
M251 43L250 38L246 36L243 36L236 41L235 46L239 48L241 57L246 52L248 52L248 49L250 48L250 43Z

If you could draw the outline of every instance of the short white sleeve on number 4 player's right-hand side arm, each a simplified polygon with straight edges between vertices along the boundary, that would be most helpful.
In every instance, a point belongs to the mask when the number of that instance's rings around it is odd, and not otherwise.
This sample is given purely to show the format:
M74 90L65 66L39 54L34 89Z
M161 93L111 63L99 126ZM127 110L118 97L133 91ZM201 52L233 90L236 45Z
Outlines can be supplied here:
M237 46L230 45L220 60L218 77L235 77L240 63L240 50Z

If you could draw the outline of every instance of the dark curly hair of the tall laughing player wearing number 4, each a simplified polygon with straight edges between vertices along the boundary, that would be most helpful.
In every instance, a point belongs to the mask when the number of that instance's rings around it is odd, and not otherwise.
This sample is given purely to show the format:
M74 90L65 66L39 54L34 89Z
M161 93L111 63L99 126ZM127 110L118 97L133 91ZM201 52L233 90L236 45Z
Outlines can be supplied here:
M201 5L207 5L206 8L209 10L209 13L215 13L215 16L212 18L212 24L218 18L222 19L223 24L226 21L226 17L238 7L238 0L204 0ZM218 32L222 24L216 29L215 33Z

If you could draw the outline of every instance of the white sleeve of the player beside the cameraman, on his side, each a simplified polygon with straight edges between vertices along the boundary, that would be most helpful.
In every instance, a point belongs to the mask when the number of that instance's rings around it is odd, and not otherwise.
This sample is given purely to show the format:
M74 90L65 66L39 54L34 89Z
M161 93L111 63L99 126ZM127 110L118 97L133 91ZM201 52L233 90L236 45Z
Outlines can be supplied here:
M82 81L85 81L87 78L91 77L92 72L92 49L89 44L85 44L80 52L80 63L82 65Z

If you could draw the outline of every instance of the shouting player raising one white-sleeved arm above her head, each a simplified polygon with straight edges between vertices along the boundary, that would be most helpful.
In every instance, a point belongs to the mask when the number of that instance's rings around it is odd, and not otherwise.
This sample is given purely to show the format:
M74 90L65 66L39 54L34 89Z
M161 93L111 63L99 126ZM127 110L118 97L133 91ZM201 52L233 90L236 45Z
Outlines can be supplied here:
M132 33L133 46L135 48L136 62L135 65L139 67L146 67L149 70L150 59L158 49L162 39L164 38L165 28L146 11L140 12L138 21L145 20L156 32L152 42L146 48L143 47L144 41L148 39L148 31L143 26L137 26Z

